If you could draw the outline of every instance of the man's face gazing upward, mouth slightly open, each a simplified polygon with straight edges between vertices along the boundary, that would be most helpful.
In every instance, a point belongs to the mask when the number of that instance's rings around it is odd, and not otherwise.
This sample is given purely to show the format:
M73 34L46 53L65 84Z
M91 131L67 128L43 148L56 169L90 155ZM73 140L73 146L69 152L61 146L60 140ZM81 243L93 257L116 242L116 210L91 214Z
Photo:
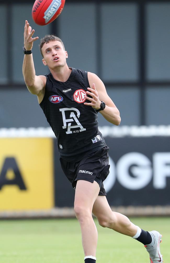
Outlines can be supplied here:
M67 51L64 50L62 43L59 41L45 43L42 47L42 54L44 56L42 59L43 64L50 69L64 66L66 58L68 58Z

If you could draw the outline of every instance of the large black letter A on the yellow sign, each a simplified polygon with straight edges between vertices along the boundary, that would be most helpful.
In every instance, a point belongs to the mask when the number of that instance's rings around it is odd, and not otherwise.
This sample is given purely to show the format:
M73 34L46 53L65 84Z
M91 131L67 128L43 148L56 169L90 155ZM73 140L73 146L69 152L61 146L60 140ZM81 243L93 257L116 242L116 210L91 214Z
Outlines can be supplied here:
M6 175L8 170L13 170L13 173L15 175L15 178L12 180L9 180ZM2 171L0 174L0 190L2 186L4 185L18 185L20 190L26 190L24 181L22 179L19 167L16 163L15 158L6 158L4 161L4 164L2 166Z

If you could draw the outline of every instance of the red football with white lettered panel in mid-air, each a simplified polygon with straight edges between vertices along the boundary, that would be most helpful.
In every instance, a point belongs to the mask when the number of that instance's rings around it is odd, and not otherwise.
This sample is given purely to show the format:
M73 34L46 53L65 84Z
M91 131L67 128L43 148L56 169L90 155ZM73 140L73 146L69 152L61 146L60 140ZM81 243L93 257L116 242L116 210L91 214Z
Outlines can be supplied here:
M45 26L56 19L62 12L65 0L36 0L32 8L33 21Z

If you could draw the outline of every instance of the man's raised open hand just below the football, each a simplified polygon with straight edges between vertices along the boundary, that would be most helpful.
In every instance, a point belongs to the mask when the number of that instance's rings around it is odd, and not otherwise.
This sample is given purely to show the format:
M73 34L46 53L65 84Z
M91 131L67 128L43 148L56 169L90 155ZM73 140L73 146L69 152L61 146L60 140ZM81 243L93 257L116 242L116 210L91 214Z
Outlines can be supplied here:
M32 38L35 30L32 29L29 26L28 21L25 21L25 27L24 27L24 47L26 50L31 50L33 46L33 42L38 39L38 37Z

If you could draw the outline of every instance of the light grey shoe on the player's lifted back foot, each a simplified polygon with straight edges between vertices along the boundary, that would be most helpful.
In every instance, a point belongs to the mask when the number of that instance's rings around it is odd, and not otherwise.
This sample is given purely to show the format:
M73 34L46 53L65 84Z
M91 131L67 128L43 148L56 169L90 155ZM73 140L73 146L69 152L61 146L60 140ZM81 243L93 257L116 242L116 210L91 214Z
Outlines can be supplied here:
M160 252L160 243L161 243L161 237L159 232L157 231L150 231L149 232L151 237L152 237L152 242L149 245L145 245L146 250L149 253L150 257L150 263L158 263L158 262L163 262L163 256L161 255Z

